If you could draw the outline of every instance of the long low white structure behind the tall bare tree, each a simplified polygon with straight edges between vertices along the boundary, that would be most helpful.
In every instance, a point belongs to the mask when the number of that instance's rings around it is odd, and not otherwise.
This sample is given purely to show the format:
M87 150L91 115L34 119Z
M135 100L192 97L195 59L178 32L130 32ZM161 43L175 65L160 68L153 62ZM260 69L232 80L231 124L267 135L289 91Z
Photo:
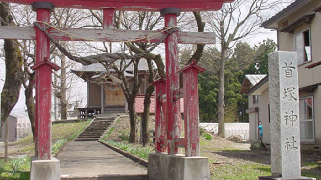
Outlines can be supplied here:
M200 127L214 134L218 133L219 123L201 122ZM225 137L240 135L243 140L249 140L249 123L225 123Z

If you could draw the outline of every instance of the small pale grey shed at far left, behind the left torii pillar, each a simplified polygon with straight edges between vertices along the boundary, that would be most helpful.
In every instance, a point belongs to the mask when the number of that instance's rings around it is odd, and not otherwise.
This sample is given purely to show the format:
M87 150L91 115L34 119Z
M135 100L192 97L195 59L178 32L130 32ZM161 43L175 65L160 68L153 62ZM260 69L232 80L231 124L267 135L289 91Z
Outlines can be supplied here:
M8 117L9 141L19 140L32 133L26 112L11 112ZM1 128L1 141L5 138L5 125Z

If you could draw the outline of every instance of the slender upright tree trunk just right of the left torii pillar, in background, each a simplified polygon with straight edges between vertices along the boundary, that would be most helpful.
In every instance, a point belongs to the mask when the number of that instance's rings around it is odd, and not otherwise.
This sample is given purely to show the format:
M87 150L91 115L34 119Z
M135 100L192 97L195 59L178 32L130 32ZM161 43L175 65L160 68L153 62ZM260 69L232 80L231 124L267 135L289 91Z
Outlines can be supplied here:
M66 56L61 55L60 68L60 119L67 119L67 100L66 100Z

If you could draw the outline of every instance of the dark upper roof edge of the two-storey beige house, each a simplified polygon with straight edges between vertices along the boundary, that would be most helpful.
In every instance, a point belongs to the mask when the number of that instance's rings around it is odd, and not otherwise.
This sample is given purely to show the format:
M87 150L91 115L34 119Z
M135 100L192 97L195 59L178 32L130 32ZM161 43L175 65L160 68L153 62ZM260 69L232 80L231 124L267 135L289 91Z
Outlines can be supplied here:
M282 9L280 12L276 13L270 19L264 21L262 26L264 28L277 28L277 21L289 16L292 12L299 9L300 7L308 4L312 0L296 0L286 8Z

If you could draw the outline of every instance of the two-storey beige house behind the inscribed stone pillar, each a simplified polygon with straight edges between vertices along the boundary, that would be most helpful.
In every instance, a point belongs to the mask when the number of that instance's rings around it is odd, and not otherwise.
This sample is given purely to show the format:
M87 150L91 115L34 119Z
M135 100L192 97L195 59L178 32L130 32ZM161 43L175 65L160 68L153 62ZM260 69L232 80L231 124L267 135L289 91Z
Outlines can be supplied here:
M303 151L321 148L321 0L296 0L262 26L277 30L278 50L298 53L300 141ZM263 141L270 143L268 76L248 86L245 78L240 92L248 94L250 139L257 136L262 122Z

